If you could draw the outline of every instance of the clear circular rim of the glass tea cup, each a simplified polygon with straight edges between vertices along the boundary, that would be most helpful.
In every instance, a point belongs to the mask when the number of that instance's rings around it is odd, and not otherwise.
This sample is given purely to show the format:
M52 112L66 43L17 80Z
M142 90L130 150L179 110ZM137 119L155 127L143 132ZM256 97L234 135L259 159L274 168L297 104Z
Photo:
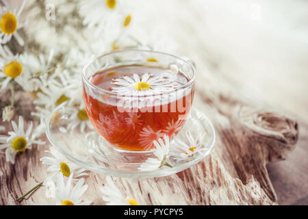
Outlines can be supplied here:
M190 68L192 68L192 77L188 78L189 81L187 83L185 83L183 86L180 86L179 88L175 88L175 90L169 91L169 92L164 92L164 93L159 93L159 94L151 94L149 96L160 96L162 94L172 94L173 92L177 92L179 90L185 89L185 88L190 88L191 86L194 85L194 83L196 82L196 69L194 68L194 66L192 66L192 64L190 64L190 62L188 62L187 60L184 60L181 57L178 57L176 55L171 55L169 53L164 53L164 52L158 52L158 51L151 51L151 50L142 50L142 49L122 49L122 50L117 50L117 51L112 51L110 53L106 53L104 55L99 55L98 57L95 57L94 59L92 59L90 62L88 62L84 68L82 69L82 80L87 84L87 86L90 86L92 89L94 90L99 90L99 92L104 92L113 96L121 96L121 97L126 97L126 96L138 96L138 95L124 95L124 94L118 94L116 92L112 92L110 90L105 90L103 88L99 88L98 86L95 86L93 83L91 83L91 81L86 77L86 70L87 68L90 66L90 64L92 64L93 62L95 62L96 60L99 60L103 57L107 57L109 55L114 55L114 54L118 54L118 53L125 53L125 52L141 52L141 53L155 53L155 54L160 54L160 55L168 55L170 57L174 57L175 59L179 59L183 62L185 62L185 64L188 64L188 66L190 66ZM93 73L94 74L94 73ZM144 96L143 96L144 97Z

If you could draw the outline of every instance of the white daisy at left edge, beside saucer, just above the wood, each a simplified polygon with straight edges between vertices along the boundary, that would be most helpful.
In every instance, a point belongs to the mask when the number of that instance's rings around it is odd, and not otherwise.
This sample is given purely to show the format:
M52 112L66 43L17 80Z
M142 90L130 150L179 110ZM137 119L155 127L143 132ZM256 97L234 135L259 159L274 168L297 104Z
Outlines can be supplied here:
M0 136L0 149L5 149L5 158L7 162L15 163L15 157L18 152L23 152L26 149L31 149L31 144L44 144L31 138L32 122L24 131L23 117L19 116L18 126L12 121L13 131L9 131L9 136Z

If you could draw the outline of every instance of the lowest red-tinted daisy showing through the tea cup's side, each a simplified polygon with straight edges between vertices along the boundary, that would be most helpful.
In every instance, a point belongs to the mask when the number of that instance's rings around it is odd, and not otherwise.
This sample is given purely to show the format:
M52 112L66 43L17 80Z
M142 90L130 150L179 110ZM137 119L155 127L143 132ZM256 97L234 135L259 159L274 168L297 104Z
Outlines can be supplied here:
M153 129L148 125L147 127L144 127L142 131L140 131L140 138L138 140L140 141L140 144L144 147L144 149L151 149L153 141L163 136L164 133L162 133L162 130L153 131Z

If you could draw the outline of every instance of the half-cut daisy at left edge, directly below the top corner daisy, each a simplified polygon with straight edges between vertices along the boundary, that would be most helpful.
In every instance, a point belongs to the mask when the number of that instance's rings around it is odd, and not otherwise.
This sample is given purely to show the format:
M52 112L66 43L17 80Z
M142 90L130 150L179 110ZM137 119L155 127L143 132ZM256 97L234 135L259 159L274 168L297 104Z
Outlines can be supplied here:
M15 79L17 81L23 73L23 65L7 46L0 45L0 81L2 79L0 92L8 86L8 83Z

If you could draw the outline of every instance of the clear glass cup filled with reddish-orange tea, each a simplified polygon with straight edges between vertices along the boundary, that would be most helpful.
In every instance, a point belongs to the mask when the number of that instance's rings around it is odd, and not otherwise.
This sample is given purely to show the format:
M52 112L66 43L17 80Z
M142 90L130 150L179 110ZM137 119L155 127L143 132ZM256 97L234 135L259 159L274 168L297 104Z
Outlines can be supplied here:
M160 75L153 81L152 77L136 79L127 75L132 79L128 87L131 93L97 86L97 73L107 73L121 66L157 68L162 72L165 70L167 76ZM172 77L177 74L185 77L185 83L170 86ZM112 74L101 75L114 81ZM181 57L155 51L114 51L97 57L84 67L82 81L86 111L97 133L116 149L150 151L155 147L153 140L165 134L172 140L181 131L190 114L195 78L194 67Z

